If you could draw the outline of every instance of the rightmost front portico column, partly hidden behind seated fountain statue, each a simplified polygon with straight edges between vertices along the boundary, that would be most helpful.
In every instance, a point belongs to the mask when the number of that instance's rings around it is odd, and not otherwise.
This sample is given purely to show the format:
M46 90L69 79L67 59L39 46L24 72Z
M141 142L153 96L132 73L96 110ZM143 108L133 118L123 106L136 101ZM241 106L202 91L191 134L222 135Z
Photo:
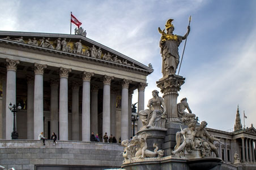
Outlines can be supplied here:
M141 110L144 110L144 97L145 97L145 88L148 84L140 82L138 86L138 113ZM137 131L142 127L142 121L139 119L137 124Z

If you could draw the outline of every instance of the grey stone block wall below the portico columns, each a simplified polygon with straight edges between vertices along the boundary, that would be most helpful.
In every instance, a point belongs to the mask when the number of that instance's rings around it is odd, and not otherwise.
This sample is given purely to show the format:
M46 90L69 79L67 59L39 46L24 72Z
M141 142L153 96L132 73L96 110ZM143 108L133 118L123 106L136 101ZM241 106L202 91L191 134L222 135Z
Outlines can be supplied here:
M82 165L118 168L122 164L120 144L81 141L2 140L0 165L6 168L34 170L35 165Z

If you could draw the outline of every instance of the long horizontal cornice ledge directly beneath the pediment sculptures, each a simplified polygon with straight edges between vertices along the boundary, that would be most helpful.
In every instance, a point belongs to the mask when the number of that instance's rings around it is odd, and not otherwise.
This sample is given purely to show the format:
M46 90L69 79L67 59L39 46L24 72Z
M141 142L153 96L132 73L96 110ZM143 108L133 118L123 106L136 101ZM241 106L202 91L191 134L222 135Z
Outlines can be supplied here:
M150 73L153 72L153 71L147 71L146 69L142 69L142 68L126 66L125 64L110 62L110 61L103 60L103 59L92 58L92 57L88 57L88 56L84 56L84 55L80 55L80 54L67 53L64 51L48 49L48 48L40 47L40 46L28 45L26 43L20 43L20 42L15 42L15 41L8 41L8 40L0 39L0 46L7 47L9 49L22 50L22 51L26 51L26 52L30 52L30 53L54 56L57 58L72 59L72 60L76 60L79 62L95 64L98 66L118 68L118 69L121 69L121 70L127 71L127 72L134 72L134 73L139 72L140 74L146 75L146 76L150 75ZM106 64L108 66L106 66Z

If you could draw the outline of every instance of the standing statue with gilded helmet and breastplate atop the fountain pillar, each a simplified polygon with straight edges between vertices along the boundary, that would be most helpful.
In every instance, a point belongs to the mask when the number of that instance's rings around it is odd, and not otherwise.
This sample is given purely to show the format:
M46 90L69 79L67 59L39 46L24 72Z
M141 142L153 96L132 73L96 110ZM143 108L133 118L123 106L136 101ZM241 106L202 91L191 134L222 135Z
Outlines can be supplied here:
M162 31L159 28L159 32L162 34L160 39L160 53L162 55L162 73L163 77L176 73L178 63L180 62L180 56L178 54L178 46L182 40L187 38L190 32L190 26L187 27L187 33L185 36L177 36L173 34L174 26L172 24L173 19L169 19L165 25L165 29Z

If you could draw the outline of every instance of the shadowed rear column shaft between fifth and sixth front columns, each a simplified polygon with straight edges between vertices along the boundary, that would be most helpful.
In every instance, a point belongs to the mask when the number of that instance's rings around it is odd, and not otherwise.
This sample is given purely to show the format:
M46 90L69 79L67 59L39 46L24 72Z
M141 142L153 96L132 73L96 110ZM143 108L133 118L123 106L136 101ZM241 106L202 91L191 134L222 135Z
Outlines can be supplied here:
M116 136L116 91L111 90L110 95L110 133Z

